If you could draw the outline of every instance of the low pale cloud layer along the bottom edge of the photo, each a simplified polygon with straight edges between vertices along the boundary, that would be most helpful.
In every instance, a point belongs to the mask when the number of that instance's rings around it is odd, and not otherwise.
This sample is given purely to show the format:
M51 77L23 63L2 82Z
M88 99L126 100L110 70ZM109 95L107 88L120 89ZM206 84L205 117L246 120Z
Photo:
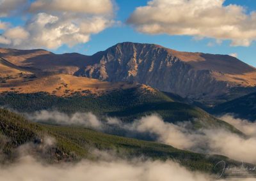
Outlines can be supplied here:
M172 161L81 161L77 164L45 165L33 157L21 157L12 166L0 166L2 180L93 180L93 181L164 181L164 180L213 180L209 175L192 172ZM214 177L213 177L214 178Z

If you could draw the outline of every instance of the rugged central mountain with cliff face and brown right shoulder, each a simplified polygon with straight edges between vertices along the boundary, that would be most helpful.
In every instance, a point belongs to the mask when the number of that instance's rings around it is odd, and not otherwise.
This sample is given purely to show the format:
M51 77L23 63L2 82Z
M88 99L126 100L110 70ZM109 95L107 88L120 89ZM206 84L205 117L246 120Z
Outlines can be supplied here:
M256 85L253 78L256 69L228 55L177 52L159 45L119 43L92 57L99 59L98 63L79 69L75 75L109 82L144 83L205 103L216 99L225 101L220 96L226 94L227 98L246 94ZM237 91L237 87L241 89Z

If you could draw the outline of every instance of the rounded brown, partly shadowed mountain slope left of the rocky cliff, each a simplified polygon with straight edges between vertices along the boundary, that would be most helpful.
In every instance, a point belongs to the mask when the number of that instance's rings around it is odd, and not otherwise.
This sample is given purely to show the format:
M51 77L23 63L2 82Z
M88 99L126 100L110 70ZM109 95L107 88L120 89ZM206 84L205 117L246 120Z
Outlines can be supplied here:
M33 68L36 72L55 72L72 75L77 69L92 64L90 56L81 54L53 54L46 50L16 50L0 48L0 57L15 66Z

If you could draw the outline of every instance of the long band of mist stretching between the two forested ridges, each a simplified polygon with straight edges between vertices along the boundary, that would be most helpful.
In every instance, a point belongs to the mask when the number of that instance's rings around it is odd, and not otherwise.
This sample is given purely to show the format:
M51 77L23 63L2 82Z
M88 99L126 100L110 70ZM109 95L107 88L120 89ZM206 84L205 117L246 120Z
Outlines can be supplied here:
M220 128L193 130L191 129L193 127L191 122L172 124L164 122L159 115L148 115L139 120L134 120L132 123L125 123L113 117L100 120L92 113L66 115L65 113L48 112L46 110L27 115L27 117L36 122L77 124L109 134L146 140L153 139L184 150L204 154L220 154L237 161L256 163L256 124L246 122L246 120L233 119L230 116L221 119L246 133L248 138L243 138Z

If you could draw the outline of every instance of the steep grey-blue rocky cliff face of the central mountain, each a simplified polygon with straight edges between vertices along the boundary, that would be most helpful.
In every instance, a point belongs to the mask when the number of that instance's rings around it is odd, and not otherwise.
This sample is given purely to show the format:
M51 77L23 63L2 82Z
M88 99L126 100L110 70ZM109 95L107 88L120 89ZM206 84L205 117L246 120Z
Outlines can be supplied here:
M93 55L98 63L79 69L75 75L109 82L144 83L160 91L198 100L216 98L238 86L236 82L218 80L214 70L195 66L196 61L205 64L199 54L195 53L198 57L191 56L191 61L187 55L183 61L179 56L184 54L159 45L120 43Z

